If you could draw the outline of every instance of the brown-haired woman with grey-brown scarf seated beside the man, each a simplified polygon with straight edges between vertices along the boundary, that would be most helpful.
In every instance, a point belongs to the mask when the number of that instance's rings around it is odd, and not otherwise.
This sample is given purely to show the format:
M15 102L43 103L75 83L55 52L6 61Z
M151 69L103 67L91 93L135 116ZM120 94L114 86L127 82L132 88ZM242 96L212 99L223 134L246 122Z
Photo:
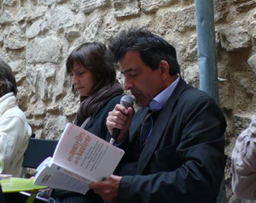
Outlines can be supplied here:
M109 141L108 111L119 103L123 88L116 80L113 64L105 57L106 51L100 42L83 43L68 56L66 65L73 92L79 93L81 101L74 123ZM80 195L58 189L55 195L57 202L102 202L92 190Z

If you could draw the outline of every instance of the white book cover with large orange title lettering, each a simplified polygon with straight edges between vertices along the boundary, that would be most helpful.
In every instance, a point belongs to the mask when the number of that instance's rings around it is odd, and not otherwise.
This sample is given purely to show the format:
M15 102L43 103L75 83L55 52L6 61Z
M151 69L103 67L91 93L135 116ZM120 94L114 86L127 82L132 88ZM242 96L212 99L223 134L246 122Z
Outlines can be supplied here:
M110 177L123 155L122 149L67 123L55 149L53 162L69 172L97 182Z

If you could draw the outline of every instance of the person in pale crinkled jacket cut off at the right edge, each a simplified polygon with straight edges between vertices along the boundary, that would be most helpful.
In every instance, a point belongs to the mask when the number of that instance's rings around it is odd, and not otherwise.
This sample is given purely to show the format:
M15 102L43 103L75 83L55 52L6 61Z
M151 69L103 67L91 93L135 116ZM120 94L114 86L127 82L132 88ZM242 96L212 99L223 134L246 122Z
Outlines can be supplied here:
M239 199L256 200L256 116L236 139L231 160L234 195Z

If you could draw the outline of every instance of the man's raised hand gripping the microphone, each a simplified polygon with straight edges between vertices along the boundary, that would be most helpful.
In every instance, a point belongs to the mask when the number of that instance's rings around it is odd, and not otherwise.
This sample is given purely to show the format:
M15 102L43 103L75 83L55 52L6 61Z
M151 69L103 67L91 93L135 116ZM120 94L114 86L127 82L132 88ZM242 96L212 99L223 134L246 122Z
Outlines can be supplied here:
M116 104L114 109L108 112L108 118L106 125L108 127L108 132L113 133L113 128L120 129L119 137L116 140L116 143L119 144L124 141L127 136L129 127L131 126L131 119L133 116L133 109L129 107L126 109L121 104Z

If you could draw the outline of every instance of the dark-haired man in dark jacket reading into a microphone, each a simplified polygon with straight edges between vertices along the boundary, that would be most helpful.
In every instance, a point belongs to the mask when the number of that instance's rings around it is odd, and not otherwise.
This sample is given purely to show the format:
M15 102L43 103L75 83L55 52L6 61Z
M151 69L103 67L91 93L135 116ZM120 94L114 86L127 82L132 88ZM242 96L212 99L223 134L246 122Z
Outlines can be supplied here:
M215 202L224 176L226 122L214 99L183 81L175 49L148 31L123 31L109 49L125 89L142 108L133 116L117 104L108 114L109 132L121 129L122 176L90 189L119 203Z

